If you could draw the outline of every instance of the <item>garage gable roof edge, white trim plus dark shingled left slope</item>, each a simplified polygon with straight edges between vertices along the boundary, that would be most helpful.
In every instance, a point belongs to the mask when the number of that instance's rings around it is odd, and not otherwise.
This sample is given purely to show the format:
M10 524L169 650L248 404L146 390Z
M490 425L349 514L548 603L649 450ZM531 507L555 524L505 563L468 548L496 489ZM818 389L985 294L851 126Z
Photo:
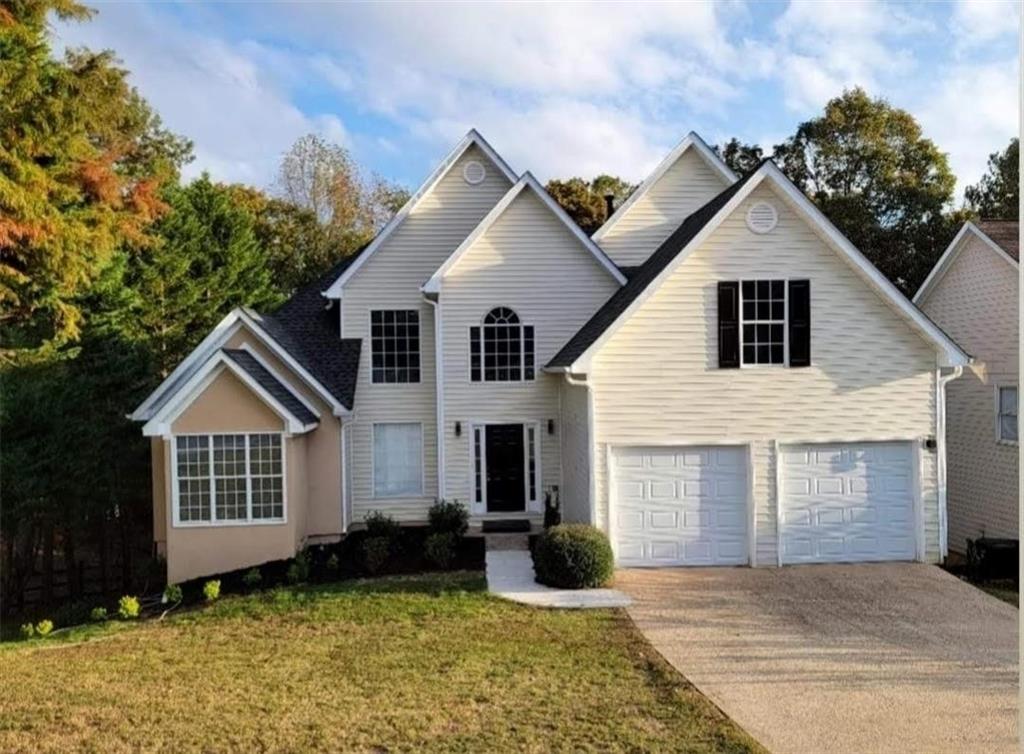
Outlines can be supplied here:
M616 292L547 365L548 369L585 373L594 353L654 290L760 184L777 186L793 208L872 286L880 296L944 355L949 365L970 357L914 306L770 161L686 218L679 228L641 265L628 285Z

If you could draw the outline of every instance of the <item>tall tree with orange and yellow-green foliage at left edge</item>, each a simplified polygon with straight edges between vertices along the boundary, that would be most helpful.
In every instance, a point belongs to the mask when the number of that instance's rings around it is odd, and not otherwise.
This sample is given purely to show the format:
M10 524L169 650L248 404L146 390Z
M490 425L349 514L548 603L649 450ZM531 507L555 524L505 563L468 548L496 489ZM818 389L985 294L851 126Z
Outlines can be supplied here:
M47 15L74 0L0 5L0 357L78 336L76 297L163 210L190 145L167 132L109 52L51 55Z

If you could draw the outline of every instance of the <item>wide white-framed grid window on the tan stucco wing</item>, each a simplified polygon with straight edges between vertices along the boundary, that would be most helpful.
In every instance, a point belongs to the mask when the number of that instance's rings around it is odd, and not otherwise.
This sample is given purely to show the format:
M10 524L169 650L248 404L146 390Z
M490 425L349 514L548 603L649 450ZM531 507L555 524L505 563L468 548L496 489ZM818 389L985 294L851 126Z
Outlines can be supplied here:
M179 523L284 520L280 434L184 434L175 453Z

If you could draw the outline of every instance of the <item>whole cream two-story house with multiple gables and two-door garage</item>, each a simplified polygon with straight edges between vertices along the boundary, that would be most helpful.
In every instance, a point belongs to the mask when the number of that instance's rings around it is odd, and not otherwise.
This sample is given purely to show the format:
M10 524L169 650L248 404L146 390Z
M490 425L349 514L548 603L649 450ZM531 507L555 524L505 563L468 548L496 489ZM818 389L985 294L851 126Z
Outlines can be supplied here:
M539 523L547 495L624 566L935 561L968 362L770 162L737 180L690 134L589 239L470 131L133 417L172 582L437 498Z

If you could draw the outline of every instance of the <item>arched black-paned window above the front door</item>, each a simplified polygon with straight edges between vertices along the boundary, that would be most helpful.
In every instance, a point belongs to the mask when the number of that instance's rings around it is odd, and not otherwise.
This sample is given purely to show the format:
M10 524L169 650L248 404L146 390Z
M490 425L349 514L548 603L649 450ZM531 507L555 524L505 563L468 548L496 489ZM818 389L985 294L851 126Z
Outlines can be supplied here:
M534 379L534 327L506 306L490 309L469 329L469 371L473 382Z

